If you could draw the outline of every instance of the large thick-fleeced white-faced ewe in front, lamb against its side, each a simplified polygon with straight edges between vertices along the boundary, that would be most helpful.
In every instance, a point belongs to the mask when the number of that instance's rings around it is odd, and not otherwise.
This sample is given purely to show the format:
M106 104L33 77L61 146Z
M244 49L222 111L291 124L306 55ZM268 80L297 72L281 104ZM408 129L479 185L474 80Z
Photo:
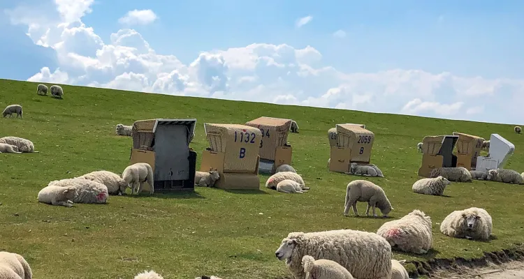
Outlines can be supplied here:
M293 278L305 279L302 258L330 259L358 279L391 278L391 246L378 234L353 229L290 232L275 256L286 261Z

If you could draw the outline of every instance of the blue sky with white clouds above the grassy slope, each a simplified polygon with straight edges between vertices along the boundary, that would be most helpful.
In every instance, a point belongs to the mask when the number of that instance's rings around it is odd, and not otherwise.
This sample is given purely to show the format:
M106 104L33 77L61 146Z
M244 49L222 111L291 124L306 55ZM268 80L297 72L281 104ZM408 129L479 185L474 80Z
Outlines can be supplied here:
M0 11L0 78L524 124L524 1L17 0Z

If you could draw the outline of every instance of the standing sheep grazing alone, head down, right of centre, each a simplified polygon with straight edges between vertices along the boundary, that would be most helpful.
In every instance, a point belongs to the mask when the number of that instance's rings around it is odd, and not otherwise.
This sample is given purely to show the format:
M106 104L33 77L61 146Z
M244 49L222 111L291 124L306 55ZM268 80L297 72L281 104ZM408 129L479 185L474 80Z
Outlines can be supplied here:
M373 216L377 217L375 213L375 206L380 209L382 216L388 217L388 213L393 210L391 202L384 190L375 183L367 180L354 180L347 184L346 188L346 202L344 204L344 216L348 216L349 206L353 206L355 216L358 216L356 209L356 202L367 202L367 209L365 216L369 216L370 207L373 209Z

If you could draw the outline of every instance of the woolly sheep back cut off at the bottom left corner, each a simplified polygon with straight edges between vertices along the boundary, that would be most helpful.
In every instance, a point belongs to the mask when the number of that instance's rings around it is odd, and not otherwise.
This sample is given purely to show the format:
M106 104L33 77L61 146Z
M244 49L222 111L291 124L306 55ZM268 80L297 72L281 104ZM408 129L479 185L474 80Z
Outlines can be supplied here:
M33 271L22 255L14 252L1 251L0 278L32 279Z

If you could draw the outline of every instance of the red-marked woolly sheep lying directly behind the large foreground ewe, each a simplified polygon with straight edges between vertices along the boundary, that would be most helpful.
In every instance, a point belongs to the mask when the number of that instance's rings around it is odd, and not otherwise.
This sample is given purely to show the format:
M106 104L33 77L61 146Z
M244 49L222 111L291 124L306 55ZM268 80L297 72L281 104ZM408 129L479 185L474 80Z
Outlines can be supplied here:
M391 248L414 254L425 254L430 250L433 235L431 218L415 209L406 216L384 223L377 230Z

